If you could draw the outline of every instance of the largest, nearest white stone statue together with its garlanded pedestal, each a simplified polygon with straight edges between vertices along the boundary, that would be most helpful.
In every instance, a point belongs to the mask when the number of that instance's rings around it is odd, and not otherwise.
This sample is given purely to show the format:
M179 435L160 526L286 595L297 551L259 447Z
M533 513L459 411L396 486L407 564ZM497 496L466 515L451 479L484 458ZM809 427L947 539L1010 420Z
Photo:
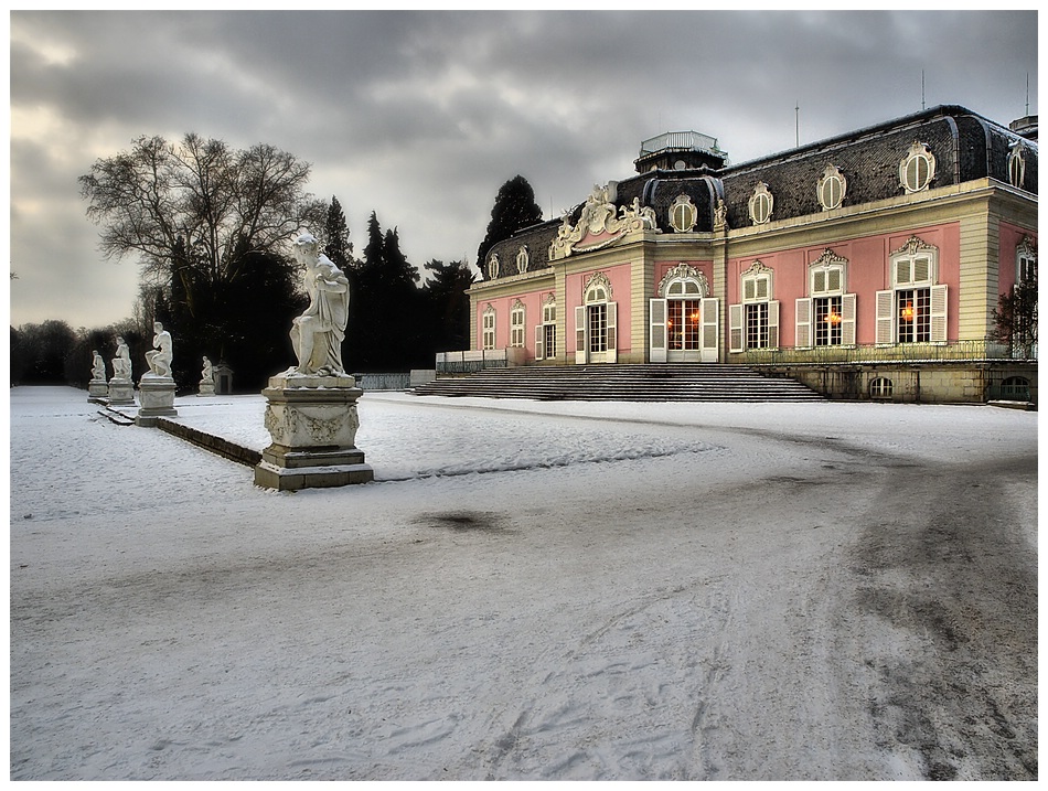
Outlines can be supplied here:
M301 234L293 249L309 307L289 333L298 364L263 391L272 443L255 467L255 483L280 490L366 483L374 472L355 445L363 391L342 365L349 280L311 234Z

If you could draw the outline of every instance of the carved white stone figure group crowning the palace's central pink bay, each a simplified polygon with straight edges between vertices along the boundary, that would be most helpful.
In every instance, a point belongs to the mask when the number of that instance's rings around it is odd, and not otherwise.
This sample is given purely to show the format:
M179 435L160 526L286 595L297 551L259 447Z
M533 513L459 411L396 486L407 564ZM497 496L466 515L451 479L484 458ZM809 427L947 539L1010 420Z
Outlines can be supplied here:
M570 216L565 213L557 238L549 244L549 260L610 247L635 231L657 233L655 212L651 206L642 206L640 199L634 197L632 204L616 212L614 200L616 182L610 181L606 186L593 186L577 223L573 225Z

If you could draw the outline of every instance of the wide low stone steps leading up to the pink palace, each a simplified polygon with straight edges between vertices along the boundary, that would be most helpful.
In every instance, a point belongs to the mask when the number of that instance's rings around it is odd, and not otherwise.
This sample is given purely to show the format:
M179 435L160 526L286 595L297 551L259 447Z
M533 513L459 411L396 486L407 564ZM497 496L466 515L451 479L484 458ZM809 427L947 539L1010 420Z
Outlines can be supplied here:
M535 400L817 402L795 380L769 377L745 365L672 363L485 368L437 378L416 395Z

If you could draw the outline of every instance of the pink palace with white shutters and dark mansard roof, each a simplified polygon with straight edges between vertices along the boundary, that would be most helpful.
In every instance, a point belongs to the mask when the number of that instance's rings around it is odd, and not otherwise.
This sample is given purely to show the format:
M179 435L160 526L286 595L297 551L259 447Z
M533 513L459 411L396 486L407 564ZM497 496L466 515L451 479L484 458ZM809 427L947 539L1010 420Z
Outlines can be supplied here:
M741 363L833 397L1031 399L1036 360L994 340L993 312L1036 272L1036 116L942 106L741 164L667 132L633 164L478 261L460 360Z

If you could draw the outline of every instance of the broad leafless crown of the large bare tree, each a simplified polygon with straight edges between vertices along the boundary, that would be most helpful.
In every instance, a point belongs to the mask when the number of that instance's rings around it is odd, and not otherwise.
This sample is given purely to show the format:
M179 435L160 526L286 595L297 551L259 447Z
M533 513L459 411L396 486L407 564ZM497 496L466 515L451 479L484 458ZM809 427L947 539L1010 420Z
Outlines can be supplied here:
M327 205L306 192L309 172L269 145L236 150L189 133L177 145L140 137L79 184L106 257L137 254L147 282L167 286L189 265L214 286L235 279L248 253L279 253L299 228L323 226Z

